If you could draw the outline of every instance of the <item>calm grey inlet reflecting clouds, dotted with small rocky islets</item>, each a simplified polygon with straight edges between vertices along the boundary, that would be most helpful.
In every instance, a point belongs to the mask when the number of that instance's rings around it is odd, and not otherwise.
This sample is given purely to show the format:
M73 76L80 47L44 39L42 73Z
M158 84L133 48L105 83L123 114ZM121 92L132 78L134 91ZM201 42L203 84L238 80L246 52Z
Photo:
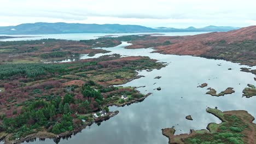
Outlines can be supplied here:
M162 128L174 126L176 134L188 133L190 129L205 129L210 122L220 123L219 119L207 113L209 107L217 106L218 109L247 110L256 116L256 97L242 98L242 90L247 83L256 85L251 73L240 71L237 63L222 60L206 59L192 56L162 55L150 53L153 49L127 50L123 47L129 45L123 43L119 46L106 48L112 52L124 56L149 56L158 59L159 62L167 62L168 65L160 70L147 72L139 71L144 75L140 79L133 80L123 86L146 86L138 88L146 94L152 92L141 103L124 107L110 107L110 110L119 110L120 113L104 121L100 126L92 124L82 130L81 133L72 136L71 139L61 140L60 143L163 143L168 139L161 134ZM97 54L98 57L106 54ZM82 59L88 58L86 55ZM217 65L220 64L221 66ZM232 68L232 70L228 70ZM254 69L256 67L253 67ZM154 79L162 76L161 79ZM224 97L212 97L206 95L207 88L197 88L201 83L208 83L217 92L224 91L227 87L233 87L236 91ZM156 83L155 85L153 85ZM240 85L239 85L240 84ZM161 91L153 90L161 87ZM191 115L194 121L188 121L185 116ZM27 143L27 142L25 142ZM29 143L54 143L53 140L35 141Z

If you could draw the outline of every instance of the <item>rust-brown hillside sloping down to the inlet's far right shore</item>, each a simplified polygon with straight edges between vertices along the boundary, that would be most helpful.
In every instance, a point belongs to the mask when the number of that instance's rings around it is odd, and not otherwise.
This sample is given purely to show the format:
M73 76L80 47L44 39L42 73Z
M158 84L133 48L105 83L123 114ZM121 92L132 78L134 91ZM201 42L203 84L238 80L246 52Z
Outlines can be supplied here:
M172 55L191 55L246 65L256 65L256 26L229 32L213 32L187 36L149 36L137 39L130 36L115 38L127 40L127 49L154 47L154 52Z

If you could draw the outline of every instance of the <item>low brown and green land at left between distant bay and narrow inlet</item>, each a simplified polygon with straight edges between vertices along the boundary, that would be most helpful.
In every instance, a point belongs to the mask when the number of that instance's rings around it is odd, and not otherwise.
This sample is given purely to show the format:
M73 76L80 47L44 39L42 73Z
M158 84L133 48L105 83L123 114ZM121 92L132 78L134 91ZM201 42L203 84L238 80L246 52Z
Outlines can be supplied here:
M31 41L0 41L0 63L38 63L78 58L80 54L94 56L107 53L94 47L113 47L121 41L99 38L97 40L41 39Z

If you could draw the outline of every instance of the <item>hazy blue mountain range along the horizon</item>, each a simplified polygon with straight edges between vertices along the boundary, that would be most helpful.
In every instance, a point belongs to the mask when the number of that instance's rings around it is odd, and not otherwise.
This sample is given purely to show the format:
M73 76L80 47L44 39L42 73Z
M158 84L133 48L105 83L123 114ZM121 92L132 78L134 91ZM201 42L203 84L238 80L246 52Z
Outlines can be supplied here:
M24 23L18 26L0 27L0 34L61 34L61 33L155 33L155 32L219 32L238 27L207 26L203 28L150 28L139 25L82 24L82 23Z

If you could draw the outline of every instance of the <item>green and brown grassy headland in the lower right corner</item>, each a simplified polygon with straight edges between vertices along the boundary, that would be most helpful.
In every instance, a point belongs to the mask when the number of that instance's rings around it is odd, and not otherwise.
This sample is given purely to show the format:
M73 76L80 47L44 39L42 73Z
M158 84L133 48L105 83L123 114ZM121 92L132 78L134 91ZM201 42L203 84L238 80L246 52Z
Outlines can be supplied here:
M162 134L168 137L169 143L255 143L256 124L254 117L247 111L220 111L207 108L207 112L218 117L222 123L210 123L207 130L190 130L190 134L174 135L175 129L162 129Z

